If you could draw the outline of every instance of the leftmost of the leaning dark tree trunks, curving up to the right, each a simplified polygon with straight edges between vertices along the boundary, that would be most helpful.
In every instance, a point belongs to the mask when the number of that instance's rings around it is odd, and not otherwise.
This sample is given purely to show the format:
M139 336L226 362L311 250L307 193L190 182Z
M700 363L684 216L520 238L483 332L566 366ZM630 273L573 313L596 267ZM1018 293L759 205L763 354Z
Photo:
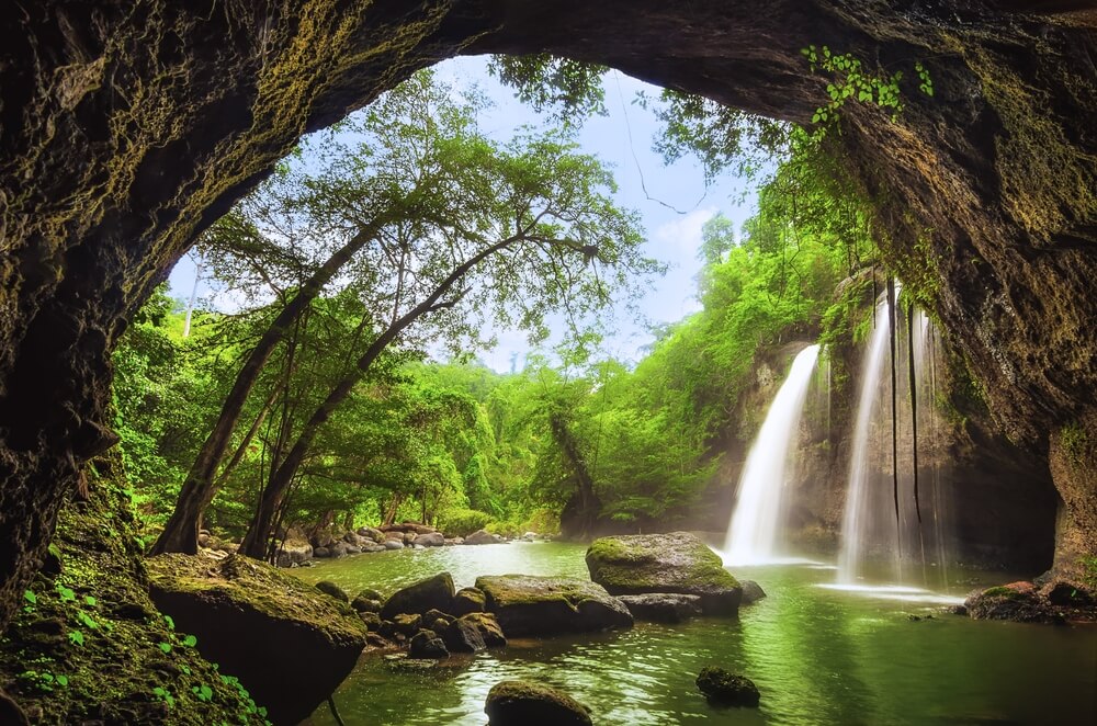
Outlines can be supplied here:
M186 474L182 488L179 490L179 499L176 501L176 509L168 518L168 523L163 526L163 532L152 545L151 554L160 555L166 552L181 552L193 555L199 547L199 522L202 512L213 501L217 494L219 481L214 479L217 467L220 465L225 451L228 449L233 431L240 419L240 412L248 400L248 394L259 379L263 366L270 360L274 348L285 338L291 326L308 309L309 304L324 290L331 277L354 256L355 252L365 247L377 234L382 222L376 220L371 226L354 235L346 245L335 252L321 264L313 275L301 286L301 291L263 333L262 338L248 354L248 360L236 376L233 389L225 398L220 407L220 415L214 424L213 431L206 438L205 443L194 458L191 470Z

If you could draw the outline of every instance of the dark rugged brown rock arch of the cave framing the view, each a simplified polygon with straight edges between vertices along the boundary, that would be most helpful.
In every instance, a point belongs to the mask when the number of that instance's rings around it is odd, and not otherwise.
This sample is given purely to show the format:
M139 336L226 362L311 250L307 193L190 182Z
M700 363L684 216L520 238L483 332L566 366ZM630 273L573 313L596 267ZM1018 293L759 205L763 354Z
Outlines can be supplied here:
M46 0L4 13L0 625L79 462L113 441L108 361L126 316L302 132L459 53L548 50L792 121L826 100L799 55L808 44L925 63L936 94L907 94L897 122L845 114L849 172L999 423L1062 463L1064 563L1094 552L1094 480L1070 464L1097 441L1097 19L1011 4Z

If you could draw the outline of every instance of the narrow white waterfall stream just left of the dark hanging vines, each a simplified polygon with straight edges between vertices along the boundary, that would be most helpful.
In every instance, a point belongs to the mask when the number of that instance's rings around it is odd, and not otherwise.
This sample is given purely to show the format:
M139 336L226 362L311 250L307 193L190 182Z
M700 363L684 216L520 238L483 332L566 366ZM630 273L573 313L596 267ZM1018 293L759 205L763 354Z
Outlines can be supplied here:
M895 283L895 298L901 286ZM857 424L853 451L849 460L849 486L846 489L846 511L841 521L841 553L838 556L838 580L852 582L857 578L862 538L868 522L869 429L877 402L880 372L887 350L887 294L877 300L875 329L861 370L861 392L857 402Z

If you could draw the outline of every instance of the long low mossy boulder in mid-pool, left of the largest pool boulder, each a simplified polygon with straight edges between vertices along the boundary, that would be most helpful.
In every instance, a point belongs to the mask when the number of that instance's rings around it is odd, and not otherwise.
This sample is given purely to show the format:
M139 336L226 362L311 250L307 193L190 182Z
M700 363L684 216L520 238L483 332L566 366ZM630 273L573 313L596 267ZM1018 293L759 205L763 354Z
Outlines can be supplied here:
M500 575L476 579L507 637L632 627L632 614L606 588L573 577ZM467 617L467 615L466 615Z

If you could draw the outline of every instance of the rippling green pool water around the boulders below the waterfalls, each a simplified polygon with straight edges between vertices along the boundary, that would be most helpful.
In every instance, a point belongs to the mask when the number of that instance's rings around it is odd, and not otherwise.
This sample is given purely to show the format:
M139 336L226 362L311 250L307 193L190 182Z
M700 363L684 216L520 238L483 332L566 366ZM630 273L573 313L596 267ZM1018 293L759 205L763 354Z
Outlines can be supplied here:
M584 553L557 543L439 547L294 572L352 594L366 587L387 593L441 570L457 587L506 572L586 577ZM620 633L512 642L415 673L367 655L336 702L349 726L483 726L491 685L529 678L589 705L596 724L1097 724L1097 627L941 615L942 601L926 594L821 587L834 570L812 565L735 574L770 595L744 608L738 621L640 623ZM935 617L913 622L912 614ZM709 663L753 679L761 707L709 706L693 683ZM306 723L336 722L321 706Z

